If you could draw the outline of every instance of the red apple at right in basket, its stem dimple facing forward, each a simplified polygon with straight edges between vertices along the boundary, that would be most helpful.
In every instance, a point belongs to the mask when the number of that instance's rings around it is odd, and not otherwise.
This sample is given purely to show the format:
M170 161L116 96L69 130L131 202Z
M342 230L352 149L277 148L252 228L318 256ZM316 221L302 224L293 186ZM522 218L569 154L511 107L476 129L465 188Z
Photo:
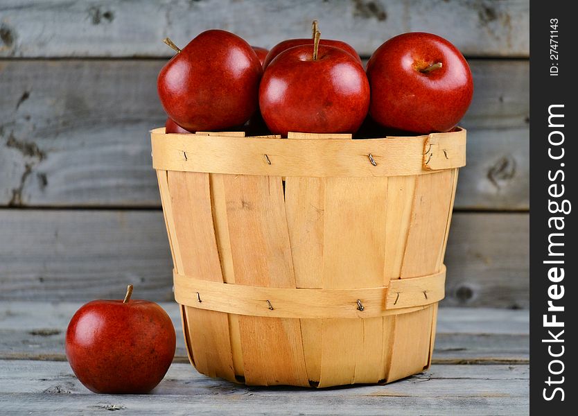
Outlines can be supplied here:
M435 62L442 67L419 71ZM385 127L419 134L454 128L473 95L462 53L431 33L405 33L382 44L367 62L367 78L371 117Z

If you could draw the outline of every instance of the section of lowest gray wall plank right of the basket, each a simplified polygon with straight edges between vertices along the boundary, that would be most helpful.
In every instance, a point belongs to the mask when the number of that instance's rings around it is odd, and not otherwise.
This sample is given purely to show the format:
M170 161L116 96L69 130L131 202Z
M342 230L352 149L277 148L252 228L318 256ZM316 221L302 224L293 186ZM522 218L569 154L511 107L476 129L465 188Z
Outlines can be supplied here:
M454 214L445 306L529 308L529 216Z

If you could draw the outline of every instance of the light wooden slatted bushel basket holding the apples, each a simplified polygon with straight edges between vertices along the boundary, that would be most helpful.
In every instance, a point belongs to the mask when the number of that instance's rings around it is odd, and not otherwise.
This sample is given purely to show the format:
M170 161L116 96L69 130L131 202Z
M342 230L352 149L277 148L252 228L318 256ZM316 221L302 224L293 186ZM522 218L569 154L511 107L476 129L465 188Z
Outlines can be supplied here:
M151 132L191 363L315 387L426 369L466 131L243 136Z

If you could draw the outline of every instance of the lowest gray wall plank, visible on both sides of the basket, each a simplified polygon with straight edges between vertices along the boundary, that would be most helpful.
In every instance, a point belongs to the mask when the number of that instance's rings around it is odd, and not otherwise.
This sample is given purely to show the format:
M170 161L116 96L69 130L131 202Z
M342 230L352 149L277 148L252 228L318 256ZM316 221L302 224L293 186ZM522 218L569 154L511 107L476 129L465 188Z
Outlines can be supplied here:
M0 229L0 300L172 300L160 211L0 209ZM527 308L528 259L528 214L456 213L443 303Z

